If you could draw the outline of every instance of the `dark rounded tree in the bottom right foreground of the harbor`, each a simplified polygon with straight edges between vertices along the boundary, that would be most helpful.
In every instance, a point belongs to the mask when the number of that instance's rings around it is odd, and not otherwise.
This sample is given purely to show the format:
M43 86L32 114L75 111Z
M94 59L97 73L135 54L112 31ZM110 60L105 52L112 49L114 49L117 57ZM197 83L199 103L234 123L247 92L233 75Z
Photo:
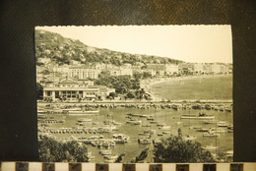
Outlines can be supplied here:
M154 148L155 162L214 162L210 151L204 150L199 142L184 141L171 136L161 139Z

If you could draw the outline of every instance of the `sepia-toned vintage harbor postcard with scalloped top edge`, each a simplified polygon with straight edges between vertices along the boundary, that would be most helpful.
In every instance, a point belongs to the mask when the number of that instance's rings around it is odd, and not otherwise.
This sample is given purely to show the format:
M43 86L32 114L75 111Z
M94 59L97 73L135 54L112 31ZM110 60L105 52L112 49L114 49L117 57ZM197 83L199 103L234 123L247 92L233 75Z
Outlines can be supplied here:
M233 161L230 25L35 27L42 162Z

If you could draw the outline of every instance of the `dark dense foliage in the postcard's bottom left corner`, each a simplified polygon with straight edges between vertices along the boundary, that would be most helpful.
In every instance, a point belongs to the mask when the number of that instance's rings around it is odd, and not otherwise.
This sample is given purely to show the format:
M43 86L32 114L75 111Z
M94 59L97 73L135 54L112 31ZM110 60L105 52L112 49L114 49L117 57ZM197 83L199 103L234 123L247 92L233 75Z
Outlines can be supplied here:
M58 142L42 136L38 142L42 162L88 162L87 147L78 142Z

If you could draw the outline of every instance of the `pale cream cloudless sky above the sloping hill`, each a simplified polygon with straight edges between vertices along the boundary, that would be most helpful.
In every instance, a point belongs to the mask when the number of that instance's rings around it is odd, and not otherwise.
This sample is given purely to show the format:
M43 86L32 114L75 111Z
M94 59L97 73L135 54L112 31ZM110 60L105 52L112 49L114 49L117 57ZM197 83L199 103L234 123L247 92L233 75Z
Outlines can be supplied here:
M98 26L36 27L83 43L132 54L156 55L193 63L232 63L231 27Z

